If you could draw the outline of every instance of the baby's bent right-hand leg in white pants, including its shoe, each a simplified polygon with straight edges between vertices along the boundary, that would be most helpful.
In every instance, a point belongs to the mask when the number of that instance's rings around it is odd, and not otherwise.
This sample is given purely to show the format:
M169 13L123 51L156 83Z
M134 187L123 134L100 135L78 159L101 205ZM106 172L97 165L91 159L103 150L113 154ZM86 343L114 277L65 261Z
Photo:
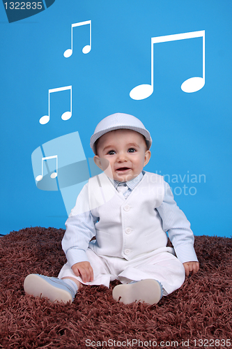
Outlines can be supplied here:
M118 278L123 285L114 288L113 297L125 304L128 304L128 299L132 300L133 297L137 299L137 302L155 304L159 302L162 295L169 295L180 288L185 281L183 264L167 251L143 259L126 261L122 269ZM130 283L130 281L139 282Z

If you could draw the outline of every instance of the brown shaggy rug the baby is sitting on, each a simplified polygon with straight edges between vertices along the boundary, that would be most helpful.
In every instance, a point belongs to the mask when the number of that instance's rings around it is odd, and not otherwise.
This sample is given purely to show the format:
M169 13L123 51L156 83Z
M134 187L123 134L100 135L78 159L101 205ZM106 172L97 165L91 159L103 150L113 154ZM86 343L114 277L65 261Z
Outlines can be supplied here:
M88 286L72 304L24 294L30 273L57 276L63 229L26 228L0 238L0 348L230 348L232 242L195 237L199 272L159 304L115 302Z

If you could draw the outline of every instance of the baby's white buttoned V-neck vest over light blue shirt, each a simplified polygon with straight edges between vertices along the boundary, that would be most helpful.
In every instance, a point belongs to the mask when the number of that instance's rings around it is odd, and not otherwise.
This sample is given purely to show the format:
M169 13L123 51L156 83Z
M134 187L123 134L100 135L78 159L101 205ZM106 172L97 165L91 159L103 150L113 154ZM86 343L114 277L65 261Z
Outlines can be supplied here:
M130 196L118 193L102 173L88 181L88 200L95 223L96 240L89 247L98 255L131 260L167 246L167 234L156 207L164 199L164 179L145 172Z

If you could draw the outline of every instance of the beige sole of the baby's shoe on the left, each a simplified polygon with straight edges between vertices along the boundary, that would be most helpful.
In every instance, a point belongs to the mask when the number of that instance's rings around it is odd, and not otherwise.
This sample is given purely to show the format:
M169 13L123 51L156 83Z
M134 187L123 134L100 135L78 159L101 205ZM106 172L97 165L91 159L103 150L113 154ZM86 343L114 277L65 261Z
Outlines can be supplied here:
M57 283L57 286L59 286L59 283ZM51 283L42 279L42 277L37 274L26 276L24 280L24 291L34 297L47 297L50 302L72 303L72 295L70 295L70 292L51 285Z

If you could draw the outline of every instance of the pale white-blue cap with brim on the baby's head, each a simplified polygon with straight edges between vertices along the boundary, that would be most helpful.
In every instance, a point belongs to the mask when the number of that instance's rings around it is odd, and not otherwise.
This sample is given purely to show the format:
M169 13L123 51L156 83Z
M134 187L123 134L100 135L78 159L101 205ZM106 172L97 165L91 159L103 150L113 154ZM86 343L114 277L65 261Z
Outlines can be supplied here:
M95 128L90 142L93 153L96 154L95 142L98 138L109 131L119 130L121 128L127 128L128 130L136 131L141 133L141 135L144 135L148 149L150 149L152 139L144 124L142 124L137 117L133 117L133 115L117 112L116 114L111 114L109 117L102 119Z

